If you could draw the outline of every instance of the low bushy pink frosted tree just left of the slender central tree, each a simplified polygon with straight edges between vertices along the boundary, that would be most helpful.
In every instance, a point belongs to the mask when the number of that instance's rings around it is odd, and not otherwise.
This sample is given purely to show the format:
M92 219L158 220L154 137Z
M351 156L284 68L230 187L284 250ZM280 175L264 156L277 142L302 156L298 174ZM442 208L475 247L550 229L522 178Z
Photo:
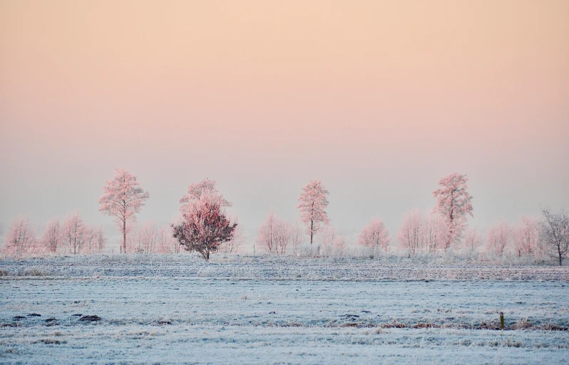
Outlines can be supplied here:
M292 235L292 225L280 220L271 210L259 227L255 242L270 254L285 255Z

